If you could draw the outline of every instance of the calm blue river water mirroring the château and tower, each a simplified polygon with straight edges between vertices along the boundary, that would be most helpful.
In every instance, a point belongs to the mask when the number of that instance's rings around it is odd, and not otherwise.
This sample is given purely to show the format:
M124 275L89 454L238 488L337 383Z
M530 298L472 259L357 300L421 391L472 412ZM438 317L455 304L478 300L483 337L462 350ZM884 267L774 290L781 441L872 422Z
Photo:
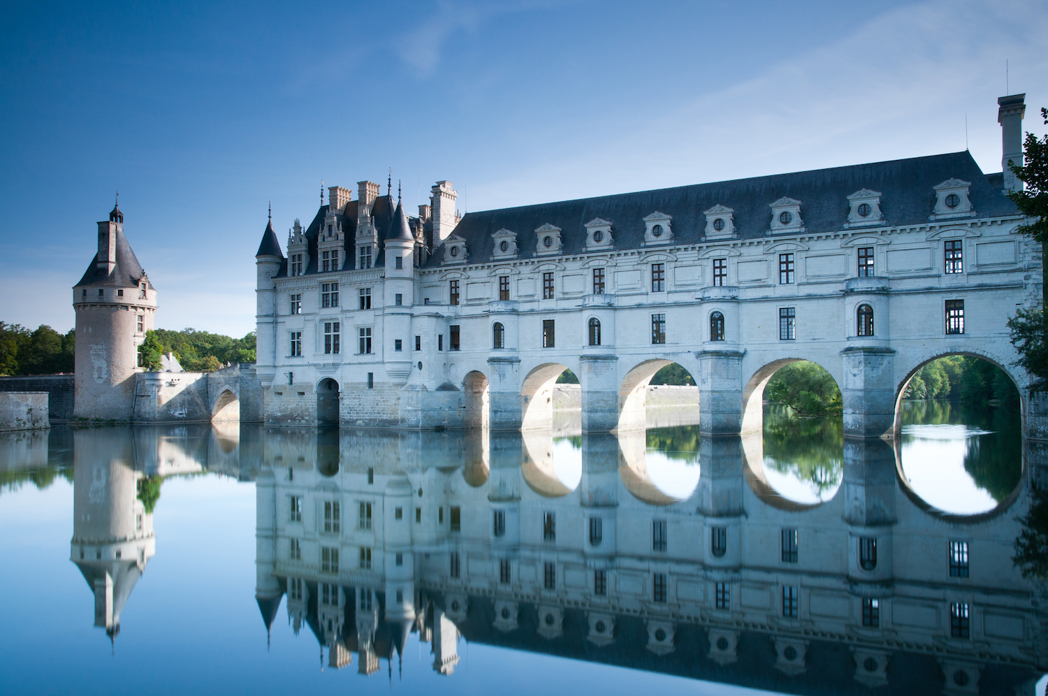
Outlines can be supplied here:
M1005 414L908 405L898 448L773 409L763 437L569 431L6 436L0 686L1013 694L1048 670Z

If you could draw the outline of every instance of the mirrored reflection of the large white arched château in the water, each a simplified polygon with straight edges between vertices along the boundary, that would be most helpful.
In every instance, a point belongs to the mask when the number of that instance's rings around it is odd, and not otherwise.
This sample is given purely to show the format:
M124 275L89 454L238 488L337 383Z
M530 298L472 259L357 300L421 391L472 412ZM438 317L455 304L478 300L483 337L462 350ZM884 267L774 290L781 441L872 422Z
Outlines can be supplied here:
M849 440L834 498L798 505L730 437L702 441L698 484L675 495L642 436L609 434L582 437L571 490L545 438L267 433L266 626L286 594L294 631L305 623L333 667L357 653L362 673L409 631L442 673L460 635L806 694L1032 694L1048 669L1048 616L1009 558L1024 495L998 515L936 516L899 486L890 444Z

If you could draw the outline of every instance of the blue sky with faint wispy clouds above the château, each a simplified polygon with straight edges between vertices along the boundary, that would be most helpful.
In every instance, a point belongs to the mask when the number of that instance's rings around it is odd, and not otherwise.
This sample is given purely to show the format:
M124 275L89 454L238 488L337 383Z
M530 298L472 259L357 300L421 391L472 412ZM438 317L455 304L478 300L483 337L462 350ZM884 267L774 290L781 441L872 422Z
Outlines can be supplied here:
M965 148L997 97L1044 133L1043 0L4 3L0 321L65 331L121 193L159 328L242 335L272 201L325 186L459 208ZM355 193L354 193L355 197Z

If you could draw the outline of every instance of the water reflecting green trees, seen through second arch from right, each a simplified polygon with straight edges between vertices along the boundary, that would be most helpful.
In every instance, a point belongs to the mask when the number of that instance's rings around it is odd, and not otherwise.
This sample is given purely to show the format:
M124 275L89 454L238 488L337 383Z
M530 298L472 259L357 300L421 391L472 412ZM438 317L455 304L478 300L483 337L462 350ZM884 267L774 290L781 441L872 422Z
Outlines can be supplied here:
M764 413L764 461L781 474L807 482L820 499L844 476L840 416L801 418L772 406Z

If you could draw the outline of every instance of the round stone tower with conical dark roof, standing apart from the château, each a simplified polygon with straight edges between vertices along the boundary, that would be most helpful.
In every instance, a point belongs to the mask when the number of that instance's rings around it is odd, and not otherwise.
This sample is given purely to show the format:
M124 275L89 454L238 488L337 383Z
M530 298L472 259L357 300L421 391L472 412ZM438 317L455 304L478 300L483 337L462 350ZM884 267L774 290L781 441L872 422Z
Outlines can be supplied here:
M153 328L156 290L124 237L124 214L113 206L99 222L99 252L73 286L77 312L78 418L130 420L138 346Z

